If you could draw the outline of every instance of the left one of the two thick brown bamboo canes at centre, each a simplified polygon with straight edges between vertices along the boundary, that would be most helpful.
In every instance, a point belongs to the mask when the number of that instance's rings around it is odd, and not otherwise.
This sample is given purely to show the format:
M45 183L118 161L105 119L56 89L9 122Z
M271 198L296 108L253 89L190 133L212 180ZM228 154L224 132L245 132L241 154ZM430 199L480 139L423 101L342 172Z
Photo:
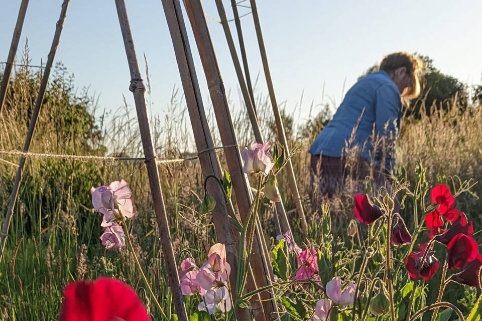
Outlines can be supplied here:
M219 178L221 167L219 165L217 154L212 149L214 147L214 143L202 103L201 92L199 89L199 83L197 80L186 27L184 25L181 6L179 0L162 0L162 4L171 34L174 52L176 54L177 65L181 76L184 96L186 97L196 147L199 152L206 150L206 152L199 153L201 170L205 178L210 176ZM235 302L237 250L229 220L226 215L228 208L226 207L223 191L221 190L220 186L212 179L209 180L206 185L209 194L211 194L216 201L216 205L212 211L214 229L216 231L217 241L226 246L227 261L231 266L230 289L232 299ZM230 203L231 201L227 200L227 202ZM230 206L232 206L232 204L230 204ZM254 279L251 279L251 282L253 281ZM250 288L250 290L255 289L256 286ZM258 295L258 304L261 305L259 302L260 298ZM254 301L252 304L256 305L257 303ZM236 318L240 321L249 321L251 319L249 310L238 309Z

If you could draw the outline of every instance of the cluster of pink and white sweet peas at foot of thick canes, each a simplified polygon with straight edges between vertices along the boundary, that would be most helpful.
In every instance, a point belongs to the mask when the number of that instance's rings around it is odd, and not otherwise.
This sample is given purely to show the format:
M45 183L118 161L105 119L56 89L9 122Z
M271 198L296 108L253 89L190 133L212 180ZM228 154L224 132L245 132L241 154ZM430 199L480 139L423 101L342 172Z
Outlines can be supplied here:
M209 314L226 312L231 309L231 299L228 290L228 277L231 267L226 262L226 247L216 243L209 249L207 261L197 267L193 258L181 262L179 279L184 295L199 293L202 300L199 311Z

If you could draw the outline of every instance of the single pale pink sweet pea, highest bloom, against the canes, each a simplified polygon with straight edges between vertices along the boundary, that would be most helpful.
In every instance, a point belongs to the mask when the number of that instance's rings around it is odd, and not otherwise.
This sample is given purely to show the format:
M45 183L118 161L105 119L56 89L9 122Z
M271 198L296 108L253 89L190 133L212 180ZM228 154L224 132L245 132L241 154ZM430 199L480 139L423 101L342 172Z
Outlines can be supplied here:
M267 142L264 144L254 143L251 149L245 147L241 152L244 163L243 172L246 174L263 172L268 175L275 165L270 154L270 148L271 145Z

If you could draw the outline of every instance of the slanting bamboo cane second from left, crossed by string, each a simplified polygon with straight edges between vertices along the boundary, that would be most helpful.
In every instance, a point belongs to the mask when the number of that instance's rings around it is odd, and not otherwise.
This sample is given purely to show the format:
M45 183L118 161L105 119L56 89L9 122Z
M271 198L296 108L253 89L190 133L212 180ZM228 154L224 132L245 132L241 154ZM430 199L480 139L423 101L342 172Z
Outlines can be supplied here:
M32 113L32 118L30 119L29 129L27 131L27 137L24 143L24 152L28 152L30 149L30 143L34 137L35 127L37 125L37 120L39 118L40 109L42 107L42 102L44 100L45 91L47 90L47 84L49 81L50 71L52 70L52 65L54 62L55 53L57 52L57 47L60 42L60 34L64 25L65 16L67 15L67 7L70 0L64 0L62 3L62 9L60 10L60 18L57 21L54 39L52 40L52 45L50 47L50 52L47 57L47 63L45 65L44 74L42 76L42 81L40 83L39 93L35 101L34 111ZM20 158L19 168L17 169L17 174L15 176L14 186L12 188L12 193L10 194L9 205L7 207L7 213L5 215L5 222L2 227L2 236L0 239L0 262L2 262L5 243L7 242L7 236L9 234L10 224L12 222L12 216L14 212L15 202L17 201L20 189L20 183L22 182L22 175L25 168L26 156Z

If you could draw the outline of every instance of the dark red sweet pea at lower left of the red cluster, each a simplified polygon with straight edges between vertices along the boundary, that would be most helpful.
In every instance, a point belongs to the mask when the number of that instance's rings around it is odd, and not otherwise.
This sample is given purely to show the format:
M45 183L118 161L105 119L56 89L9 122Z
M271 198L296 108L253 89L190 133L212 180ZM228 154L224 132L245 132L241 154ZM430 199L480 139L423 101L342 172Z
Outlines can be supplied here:
M430 280L440 268L439 260L433 256L434 251L428 251L425 261L423 263L421 262L423 252L425 252L426 248L427 243L419 245L419 251L412 251L405 259L405 267L407 268L408 275L410 275L412 279L417 278L420 264L422 264L422 267L420 268L420 274L418 274L418 276L425 281Z

